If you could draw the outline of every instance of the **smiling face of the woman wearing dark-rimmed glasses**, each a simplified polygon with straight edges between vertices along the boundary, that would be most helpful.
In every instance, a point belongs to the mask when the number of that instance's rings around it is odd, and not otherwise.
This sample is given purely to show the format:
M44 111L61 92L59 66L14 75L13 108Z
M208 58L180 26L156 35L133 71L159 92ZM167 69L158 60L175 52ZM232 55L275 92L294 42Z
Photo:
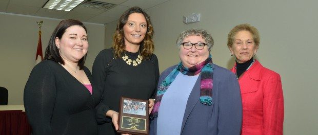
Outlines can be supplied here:
M183 42L191 42L191 43L197 43L197 42L203 42L206 43L205 39L202 38L202 36L187 36ZM181 45L180 46L180 60L182 64L186 68L190 68L193 65L196 65L198 63L201 63L205 61L207 58L209 58L209 50L208 46L204 46L202 50L197 50L194 46L192 46L191 49L186 50Z

